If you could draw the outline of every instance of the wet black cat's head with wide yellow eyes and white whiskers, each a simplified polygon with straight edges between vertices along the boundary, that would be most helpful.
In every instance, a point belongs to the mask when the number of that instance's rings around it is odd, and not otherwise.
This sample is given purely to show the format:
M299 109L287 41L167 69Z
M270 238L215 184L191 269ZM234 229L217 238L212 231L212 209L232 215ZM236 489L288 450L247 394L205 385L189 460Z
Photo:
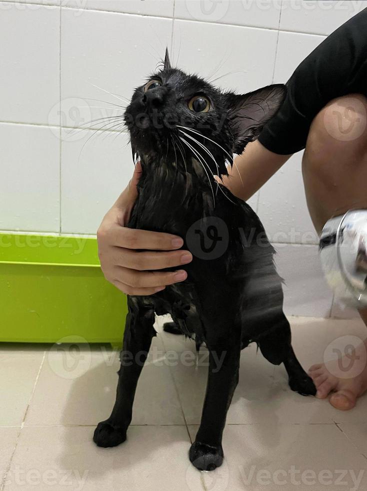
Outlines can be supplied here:
M135 89L124 114L132 153L182 172L191 171L193 159L212 174L225 174L232 154L257 138L285 92L284 85L241 95L220 91L173 68L166 50L162 68Z

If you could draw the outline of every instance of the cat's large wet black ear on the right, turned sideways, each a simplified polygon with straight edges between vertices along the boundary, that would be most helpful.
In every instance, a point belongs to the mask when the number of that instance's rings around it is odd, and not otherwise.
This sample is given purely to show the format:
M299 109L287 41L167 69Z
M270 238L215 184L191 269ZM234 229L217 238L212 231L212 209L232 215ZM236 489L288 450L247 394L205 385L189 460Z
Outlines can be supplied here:
M227 94L228 120L234 136L234 153L242 153L256 140L265 123L276 113L286 94L285 85L268 85L244 95Z

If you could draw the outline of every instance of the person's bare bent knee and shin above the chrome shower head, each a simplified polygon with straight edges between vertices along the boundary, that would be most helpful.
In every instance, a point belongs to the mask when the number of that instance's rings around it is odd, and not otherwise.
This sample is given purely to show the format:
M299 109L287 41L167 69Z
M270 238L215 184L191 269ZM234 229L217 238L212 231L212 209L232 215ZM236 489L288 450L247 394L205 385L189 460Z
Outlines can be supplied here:
M367 99L330 101L312 121L302 160L308 210L319 232L331 216L367 208Z

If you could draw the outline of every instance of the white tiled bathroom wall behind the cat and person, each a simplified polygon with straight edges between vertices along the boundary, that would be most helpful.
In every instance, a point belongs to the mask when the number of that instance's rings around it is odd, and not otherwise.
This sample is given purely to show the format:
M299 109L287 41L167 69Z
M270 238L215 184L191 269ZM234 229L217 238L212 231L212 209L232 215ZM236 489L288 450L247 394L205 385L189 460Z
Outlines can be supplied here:
M95 233L128 182L132 159L118 124L101 131L103 119L90 121L118 115L165 46L181 68L245 92L285 82L365 7L346 0L0 0L0 230ZM286 312L348 317L320 271L300 163L301 152L250 204L278 251Z

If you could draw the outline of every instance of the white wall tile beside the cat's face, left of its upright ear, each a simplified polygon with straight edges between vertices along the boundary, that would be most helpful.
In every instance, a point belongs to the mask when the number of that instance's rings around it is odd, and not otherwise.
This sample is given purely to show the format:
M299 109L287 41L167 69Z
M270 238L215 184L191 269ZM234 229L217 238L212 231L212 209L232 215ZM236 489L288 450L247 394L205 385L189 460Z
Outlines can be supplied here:
M125 98L164 57L172 31L169 19L75 9L62 9L61 23L61 110L66 115L75 97L91 106L125 106ZM80 112L100 117L99 109Z

